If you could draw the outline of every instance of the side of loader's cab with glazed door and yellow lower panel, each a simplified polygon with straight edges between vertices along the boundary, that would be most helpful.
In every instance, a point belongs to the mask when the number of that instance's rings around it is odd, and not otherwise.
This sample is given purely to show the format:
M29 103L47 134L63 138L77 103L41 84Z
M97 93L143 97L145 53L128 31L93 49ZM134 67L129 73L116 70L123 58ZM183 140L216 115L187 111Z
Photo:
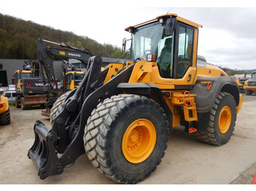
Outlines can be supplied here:
M191 89L197 72L197 38L198 28L181 22L173 34L165 35L164 31L158 44L158 67L152 69L151 82L162 90Z

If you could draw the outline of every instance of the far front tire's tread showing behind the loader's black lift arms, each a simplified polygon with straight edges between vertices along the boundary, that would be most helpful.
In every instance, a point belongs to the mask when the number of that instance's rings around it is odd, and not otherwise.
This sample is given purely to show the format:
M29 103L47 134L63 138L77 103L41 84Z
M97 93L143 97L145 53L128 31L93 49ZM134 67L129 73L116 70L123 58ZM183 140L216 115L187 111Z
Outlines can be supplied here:
M68 91L61 96L54 102L53 107L50 109L50 125L53 124L53 121L55 120L56 116L63 110L64 103L66 101L67 96L71 93L71 91Z

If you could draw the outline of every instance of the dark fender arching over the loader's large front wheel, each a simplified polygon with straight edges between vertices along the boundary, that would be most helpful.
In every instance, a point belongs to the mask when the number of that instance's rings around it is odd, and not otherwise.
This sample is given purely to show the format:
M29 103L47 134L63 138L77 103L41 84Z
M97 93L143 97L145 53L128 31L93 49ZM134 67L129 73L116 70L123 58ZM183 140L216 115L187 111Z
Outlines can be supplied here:
M170 131L173 128L173 112L170 110L167 105L164 96L162 95L161 90L157 85L146 84L146 83L120 83L117 86L121 89L123 93L131 93L137 95L145 95L146 97L150 97L164 109L165 114L167 115L167 120L169 123Z

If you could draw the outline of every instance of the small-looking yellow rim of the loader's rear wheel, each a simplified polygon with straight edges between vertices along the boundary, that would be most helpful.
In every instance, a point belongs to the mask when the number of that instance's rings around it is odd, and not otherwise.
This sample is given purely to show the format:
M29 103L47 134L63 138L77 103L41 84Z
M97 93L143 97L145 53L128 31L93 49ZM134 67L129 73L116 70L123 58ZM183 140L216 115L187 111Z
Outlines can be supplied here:
M231 109L229 106L222 108L222 111L219 113L219 131L220 133L226 133L230 128L230 123L232 119Z

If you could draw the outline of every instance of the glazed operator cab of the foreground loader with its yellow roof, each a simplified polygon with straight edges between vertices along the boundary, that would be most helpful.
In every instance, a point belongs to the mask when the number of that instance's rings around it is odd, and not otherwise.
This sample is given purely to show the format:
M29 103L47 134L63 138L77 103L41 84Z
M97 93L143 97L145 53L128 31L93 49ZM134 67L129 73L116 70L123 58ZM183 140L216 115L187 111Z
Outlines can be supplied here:
M195 30L200 26L176 14L167 14L126 28L132 34L131 59L157 62L162 78L181 79L190 66L195 67Z

